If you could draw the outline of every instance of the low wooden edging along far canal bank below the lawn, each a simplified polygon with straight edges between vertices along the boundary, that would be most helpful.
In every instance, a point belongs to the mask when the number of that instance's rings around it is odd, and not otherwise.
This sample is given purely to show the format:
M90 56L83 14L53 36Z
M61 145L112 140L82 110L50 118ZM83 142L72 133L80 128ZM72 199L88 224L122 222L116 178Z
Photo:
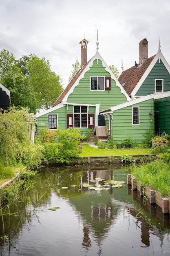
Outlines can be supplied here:
M135 159L135 162L141 162L142 160L148 160L149 162L157 159L159 154L146 154L146 155L128 155L131 157L131 162ZM119 164L121 163L122 155L114 156L98 156L98 157L78 157L73 159L69 164L58 163L57 165L93 165L93 164ZM137 159L137 160L136 160ZM54 162L42 162L44 165L55 164Z

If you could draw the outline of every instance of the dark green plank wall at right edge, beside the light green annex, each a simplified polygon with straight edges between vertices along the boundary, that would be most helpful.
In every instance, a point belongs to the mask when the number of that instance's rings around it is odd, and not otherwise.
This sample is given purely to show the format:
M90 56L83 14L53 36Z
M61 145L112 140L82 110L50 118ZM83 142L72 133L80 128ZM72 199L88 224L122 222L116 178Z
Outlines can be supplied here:
M170 134L170 97L155 100L155 132Z

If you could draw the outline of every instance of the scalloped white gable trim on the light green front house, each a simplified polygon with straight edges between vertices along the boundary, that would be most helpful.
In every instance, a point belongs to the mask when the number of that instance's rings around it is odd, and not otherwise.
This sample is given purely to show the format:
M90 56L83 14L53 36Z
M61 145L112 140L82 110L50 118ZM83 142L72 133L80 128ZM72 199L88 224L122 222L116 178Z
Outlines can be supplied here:
M84 74L90 70L90 67L93 66L93 61L95 60L100 60L102 61L102 65L103 67L106 68L106 71L108 71L110 73L111 79L114 79L116 81L116 85L120 88L121 93L123 93L126 96L127 101L130 101L130 97L128 96L127 92L124 90L124 88L122 87L122 85L119 83L119 81L117 80L117 78L114 76L113 72L110 70L110 68L108 67L108 65L106 64L106 62L104 61L104 59L102 58L102 56L99 54L99 52L97 52L95 54L95 56L93 56L93 58L91 58L91 60L89 61L88 65L85 67L85 69L83 70L82 74L78 77L78 79L75 81L75 83L73 84L73 86L71 87L71 89L67 92L66 96L63 98L62 101L67 101L68 96L73 93L74 88L79 85L79 81L84 77Z

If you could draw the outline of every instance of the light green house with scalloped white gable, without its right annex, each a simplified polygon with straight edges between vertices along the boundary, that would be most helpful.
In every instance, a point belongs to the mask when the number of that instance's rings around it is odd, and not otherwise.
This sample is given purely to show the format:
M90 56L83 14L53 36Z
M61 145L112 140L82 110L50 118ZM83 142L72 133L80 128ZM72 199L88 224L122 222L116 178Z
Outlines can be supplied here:
M83 135L95 126L107 125L99 112L131 101L127 92L109 69L98 51L86 62L86 39L81 42L82 68L75 74L53 107L36 115L38 135L41 128L61 130L69 127L82 130Z

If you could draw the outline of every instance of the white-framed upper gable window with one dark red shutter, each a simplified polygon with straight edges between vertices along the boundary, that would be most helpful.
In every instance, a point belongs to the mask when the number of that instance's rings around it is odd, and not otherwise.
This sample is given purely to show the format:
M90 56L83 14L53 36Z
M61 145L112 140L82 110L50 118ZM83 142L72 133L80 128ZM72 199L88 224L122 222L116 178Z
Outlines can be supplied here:
M91 76L91 90L104 91L111 89L111 78L105 76Z

